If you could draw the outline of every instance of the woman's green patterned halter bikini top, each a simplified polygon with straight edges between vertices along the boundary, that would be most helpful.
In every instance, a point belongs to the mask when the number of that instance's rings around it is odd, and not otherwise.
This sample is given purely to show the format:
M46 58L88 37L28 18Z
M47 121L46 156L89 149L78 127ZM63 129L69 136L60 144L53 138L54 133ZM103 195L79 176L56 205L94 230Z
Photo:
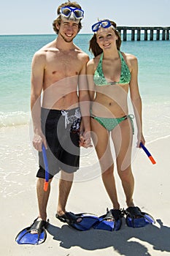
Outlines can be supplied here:
M120 50L118 51L120 55L120 61L121 61L121 74L120 74L120 80L119 82L107 82L107 79L104 77L104 72L102 68L102 62L104 53L101 53L101 58L98 62L98 66L96 68L96 71L93 76L93 81L96 84L96 86L109 86L114 84L126 84L129 83L131 80L131 72L128 69L128 65L125 63L125 60L123 58L122 53L120 53Z

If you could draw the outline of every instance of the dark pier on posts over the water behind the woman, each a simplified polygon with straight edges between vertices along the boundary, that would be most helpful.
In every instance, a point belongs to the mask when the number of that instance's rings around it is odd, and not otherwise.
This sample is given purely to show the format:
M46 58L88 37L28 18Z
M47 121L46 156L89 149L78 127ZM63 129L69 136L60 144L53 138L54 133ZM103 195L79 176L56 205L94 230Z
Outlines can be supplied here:
M156 40L169 40L169 30L170 26L168 27L149 27L149 26L117 26L117 31L120 32L120 35L123 41L127 41L127 34L130 31L131 34L131 41L135 39L140 41L142 39L142 31L144 31L144 40L147 41L150 39L152 41L154 39L154 34L156 34ZM127 33L128 31L128 33ZM155 31L155 33L154 33Z

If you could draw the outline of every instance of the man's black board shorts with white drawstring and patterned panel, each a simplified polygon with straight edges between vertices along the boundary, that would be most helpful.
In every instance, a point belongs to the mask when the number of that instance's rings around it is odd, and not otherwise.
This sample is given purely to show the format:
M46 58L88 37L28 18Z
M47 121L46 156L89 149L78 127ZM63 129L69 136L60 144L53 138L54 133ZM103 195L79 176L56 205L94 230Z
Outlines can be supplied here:
M71 110L41 110L42 132L47 140L49 178L60 170L74 173L80 165L80 108ZM45 178L42 152L39 152L38 178Z

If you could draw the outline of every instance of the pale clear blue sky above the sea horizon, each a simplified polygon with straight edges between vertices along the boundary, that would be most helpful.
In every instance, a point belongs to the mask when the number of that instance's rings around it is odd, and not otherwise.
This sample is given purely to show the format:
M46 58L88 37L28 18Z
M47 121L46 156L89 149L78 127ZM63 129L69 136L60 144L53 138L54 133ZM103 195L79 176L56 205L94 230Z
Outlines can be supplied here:
M54 34L57 7L67 0L8 0L0 3L0 34ZM170 0L77 0L85 11L82 34L99 19L117 26L170 26Z

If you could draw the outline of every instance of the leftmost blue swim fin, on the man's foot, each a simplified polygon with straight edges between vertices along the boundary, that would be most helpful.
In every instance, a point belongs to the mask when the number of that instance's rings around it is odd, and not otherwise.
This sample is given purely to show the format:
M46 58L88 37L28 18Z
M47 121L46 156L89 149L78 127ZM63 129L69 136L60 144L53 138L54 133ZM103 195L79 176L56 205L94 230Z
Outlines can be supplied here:
M26 227L18 233L15 241L18 244L42 244L47 238L47 232L45 230L47 225L48 222L45 222L45 220L38 221L35 219L30 227ZM37 233L31 233L33 230Z

